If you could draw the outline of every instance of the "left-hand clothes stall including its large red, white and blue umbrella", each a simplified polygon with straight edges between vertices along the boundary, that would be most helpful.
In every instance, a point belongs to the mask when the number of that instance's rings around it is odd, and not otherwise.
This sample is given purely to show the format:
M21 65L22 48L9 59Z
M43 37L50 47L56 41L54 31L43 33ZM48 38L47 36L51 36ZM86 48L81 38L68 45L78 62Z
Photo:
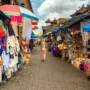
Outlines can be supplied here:
M10 20L4 20L4 24L0 21L0 83L2 83L11 78L23 64L30 62L31 52L28 43L31 39L31 19L38 20L38 18L29 10L16 5L3 5L0 6L0 10L10 17ZM3 17L0 16L0 19Z

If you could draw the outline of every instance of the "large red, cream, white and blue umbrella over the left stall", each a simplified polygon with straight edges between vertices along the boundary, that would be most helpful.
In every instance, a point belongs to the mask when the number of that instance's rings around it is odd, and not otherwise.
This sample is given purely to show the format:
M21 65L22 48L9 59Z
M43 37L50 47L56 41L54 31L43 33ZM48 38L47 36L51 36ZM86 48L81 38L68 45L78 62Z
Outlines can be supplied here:
M38 18L31 11L17 5L3 5L3 6L0 6L0 10L9 16L22 15L23 17L26 17L26 18L30 18L36 21L38 20Z

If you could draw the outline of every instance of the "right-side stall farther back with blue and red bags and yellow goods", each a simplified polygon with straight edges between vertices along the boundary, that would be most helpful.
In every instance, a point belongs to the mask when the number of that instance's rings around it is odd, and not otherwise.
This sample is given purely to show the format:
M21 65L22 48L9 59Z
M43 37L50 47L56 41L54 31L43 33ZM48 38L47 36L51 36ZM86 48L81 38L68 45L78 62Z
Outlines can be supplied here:
M67 43L65 43L64 38L61 35L61 29L54 31L55 33L55 44L52 46L52 53L55 56L61 57L66 60Z

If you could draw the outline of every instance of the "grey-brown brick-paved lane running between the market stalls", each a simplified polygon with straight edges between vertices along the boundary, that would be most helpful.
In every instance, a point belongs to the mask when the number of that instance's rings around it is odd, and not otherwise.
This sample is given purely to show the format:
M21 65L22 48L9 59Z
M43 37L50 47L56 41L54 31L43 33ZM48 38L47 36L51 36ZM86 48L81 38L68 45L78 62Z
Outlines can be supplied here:
M31 64L25 65L0 90L90 90L85 72L47 53L41 61L40 48L35 47Z

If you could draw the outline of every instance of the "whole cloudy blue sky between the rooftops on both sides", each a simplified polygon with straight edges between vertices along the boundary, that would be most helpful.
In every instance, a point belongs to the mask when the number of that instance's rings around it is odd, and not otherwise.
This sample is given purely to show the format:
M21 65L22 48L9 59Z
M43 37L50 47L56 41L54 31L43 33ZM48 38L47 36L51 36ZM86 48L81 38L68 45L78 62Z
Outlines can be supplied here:
M49 18L70 18L70 15L78 10L82 4L87 5L90 0L31 0L35 15L39 18L39 31L42 33L42 25Z

